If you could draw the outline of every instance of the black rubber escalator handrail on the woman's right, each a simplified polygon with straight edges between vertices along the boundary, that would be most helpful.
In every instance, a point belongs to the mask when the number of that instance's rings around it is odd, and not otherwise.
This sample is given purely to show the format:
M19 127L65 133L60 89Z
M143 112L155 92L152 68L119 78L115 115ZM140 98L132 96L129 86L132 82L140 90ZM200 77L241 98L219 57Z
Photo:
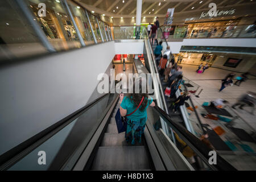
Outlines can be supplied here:
M220 170L220 171L237 171L236 168L234 168L231 164L226 162L225 159L223 159L220 155L217 154L217 164L210 165L208 163L209 159L209 152L213 151L211 148L209 148L206 144L204 144L199 138L197 138L195 135L190 133L187 129L185 129L183 126L179 125L179 123L176 123L172 121L170 115L168 115L164 110L162 110L160 107L155 106L155 111L166 121L167 125L171 127L172 130L174 130L179 137L184 140L185 143L188 144L189 147L192 148L193 151L196 152L198 156L204 162L213 170Z

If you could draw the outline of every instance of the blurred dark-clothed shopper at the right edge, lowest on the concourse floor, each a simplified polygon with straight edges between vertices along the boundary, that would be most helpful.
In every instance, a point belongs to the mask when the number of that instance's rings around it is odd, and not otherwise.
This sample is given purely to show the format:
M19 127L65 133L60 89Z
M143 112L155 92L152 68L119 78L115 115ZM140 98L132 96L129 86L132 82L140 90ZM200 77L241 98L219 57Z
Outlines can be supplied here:
M239 109L243 110L243 107L245 105L248 105L251 107L251 114L254 113L255 108L255 99L256 99L256 93L254 92L247 92L246 94L243 94L238 102L232 106L233 109L236 109L236 106L239 106Z

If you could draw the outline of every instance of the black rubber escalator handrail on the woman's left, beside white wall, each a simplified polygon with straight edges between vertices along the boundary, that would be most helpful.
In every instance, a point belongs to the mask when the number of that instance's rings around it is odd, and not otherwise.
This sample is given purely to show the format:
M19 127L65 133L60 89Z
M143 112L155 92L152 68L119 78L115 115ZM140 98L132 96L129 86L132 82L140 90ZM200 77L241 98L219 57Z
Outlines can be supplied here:
M96 100L90 102L89 104L86 104L84 107L81 107L79 110L73 112L72 114L69 114L67 117L61 119L52 126L49 126L47 129L41 131L40 133L27 139L26 141L18 144L18 146L15 146L14 148L11 148L9 151L6 151L2 155L0 155L0 171L5 169L6 166L11 166L11 164L14 164L20 159L24 158L24 156L35 150L35 148L46 142L46 140L51 138L53 135L55 135L57 132L59 132L61 129L71 123L73 121L73 118L79 117L79 115L84 113L84 111L96 104L109 93L103 94Z

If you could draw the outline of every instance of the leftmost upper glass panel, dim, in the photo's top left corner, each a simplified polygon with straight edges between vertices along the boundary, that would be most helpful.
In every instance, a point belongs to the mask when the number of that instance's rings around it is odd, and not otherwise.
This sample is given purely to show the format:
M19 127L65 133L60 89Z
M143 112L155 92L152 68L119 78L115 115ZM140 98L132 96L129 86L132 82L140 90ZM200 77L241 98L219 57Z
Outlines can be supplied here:
M47 52L15 1L0 1L0 60Z

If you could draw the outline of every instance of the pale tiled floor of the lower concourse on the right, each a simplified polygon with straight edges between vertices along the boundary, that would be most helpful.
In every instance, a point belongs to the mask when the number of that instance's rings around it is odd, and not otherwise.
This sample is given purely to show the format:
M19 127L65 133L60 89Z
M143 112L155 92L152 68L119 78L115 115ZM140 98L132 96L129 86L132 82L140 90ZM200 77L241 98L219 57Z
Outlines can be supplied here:
M197 112L199 113L207 113L205 111L204 107L201 105L204 102L210 102L212 100L216 100L218 98L222 98L224 100L229 101L228 106L225 108L229 111L232 115L237 115L238 119L234 120L233 127L237 127L240 129L245 130L250 135L255 133L256 130L256 112L255 115L251 115L249 112L251 111L251 108L245 107L244 110L241 109L232 109L230 106L232 106L234 103L237 102L237 99L247 91L255 92L256 90L256 77L250 76L249 80L246 82L242 82L241 86L229 86L222 90L221 92L218 92L221 86L221 79L225 78L228 73L231 71L226 71L223 69L218 68L209 68L205 70L204 73L196 73L197 66L194 65L186 65L181 64L183 66L183 75L184 77L188 78L188 80L191 80L191 84L195 87L188 88L189 90L196 90L197 86L200 86L199 90L197 90L197 95L200 92L200 89L203 89L203 91L200 93L200 97L195 97L194 94L192 94L192 101L194 105L198 106ZM237 73L237 76L239 76L240 73ZM234 81L234 80L233 80ZM233 154L225 154L221 155L223 158L228 160L234 167L236 167L239 170L256 170L256 156L255 155L249 155L248 152L245 152L239 144L247 144L251 147L251 149L256 152L256 144L251 142L245 142L241 141L234 133L232 133L228 127L225 126L225 122L222 121L214 121L212 119L205 119L201 115L199 116L202 123L207 123L210 127L214 128L216 126L221 126L222 129L225 130L225 133L220 135L221 139L226 141L229 140L238 148L238 152L242 152L242 154L237 155L236 152ZM196 128L197 126L195 123L192 123L192 125ZM254 153L255 154L255 153Z

